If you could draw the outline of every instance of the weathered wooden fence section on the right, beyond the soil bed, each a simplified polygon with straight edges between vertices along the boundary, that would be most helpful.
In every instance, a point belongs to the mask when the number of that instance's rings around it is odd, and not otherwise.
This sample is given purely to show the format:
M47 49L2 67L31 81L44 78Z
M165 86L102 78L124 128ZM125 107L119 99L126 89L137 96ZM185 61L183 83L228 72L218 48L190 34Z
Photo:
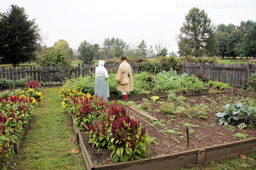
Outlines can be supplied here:
M181 72L186 74L204 74L207 80L242 86L251 73L255 73L255 64L215 64L181 63Z

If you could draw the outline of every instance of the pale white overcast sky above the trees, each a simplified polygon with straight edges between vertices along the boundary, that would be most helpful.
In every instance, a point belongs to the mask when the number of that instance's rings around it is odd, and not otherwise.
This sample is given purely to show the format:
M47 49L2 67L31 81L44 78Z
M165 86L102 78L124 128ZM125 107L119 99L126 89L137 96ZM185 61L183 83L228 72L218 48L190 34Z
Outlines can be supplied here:
M163 44L178 50L176 35L192 7L204 9L214 24L256 21L256 0L0 0L0 12L10 4L24 7L52 46L64 39L73 49L83 40L102 44L106 37L133 46Z

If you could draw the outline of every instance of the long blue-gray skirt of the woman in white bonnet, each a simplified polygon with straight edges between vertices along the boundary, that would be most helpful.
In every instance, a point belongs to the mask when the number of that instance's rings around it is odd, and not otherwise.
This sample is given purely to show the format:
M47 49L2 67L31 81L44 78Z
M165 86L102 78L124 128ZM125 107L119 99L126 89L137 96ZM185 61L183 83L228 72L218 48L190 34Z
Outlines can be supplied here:
M94 83L94 95L103 97L103 99L107 101L107 97L109 97L107 79L105 79L105 77L95 77Z

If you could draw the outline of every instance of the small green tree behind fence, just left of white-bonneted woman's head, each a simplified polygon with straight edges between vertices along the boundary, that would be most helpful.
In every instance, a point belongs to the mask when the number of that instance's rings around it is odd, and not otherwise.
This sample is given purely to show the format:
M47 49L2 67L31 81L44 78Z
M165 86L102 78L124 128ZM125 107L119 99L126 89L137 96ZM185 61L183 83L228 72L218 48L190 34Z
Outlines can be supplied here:
M83 40L77 50L78 59L85 64L92 64L93 55L98 49L98 44L89 44L87 41Z

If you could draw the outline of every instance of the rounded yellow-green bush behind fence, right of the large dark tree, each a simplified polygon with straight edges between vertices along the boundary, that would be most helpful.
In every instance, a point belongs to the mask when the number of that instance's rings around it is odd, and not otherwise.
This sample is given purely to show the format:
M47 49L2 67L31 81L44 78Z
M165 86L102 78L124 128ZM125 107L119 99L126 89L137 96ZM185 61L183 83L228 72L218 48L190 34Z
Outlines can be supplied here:
M71 59L66 58L66 53L61 47L47 50L43 55L39 56L36 63L40 66L70 66Z

